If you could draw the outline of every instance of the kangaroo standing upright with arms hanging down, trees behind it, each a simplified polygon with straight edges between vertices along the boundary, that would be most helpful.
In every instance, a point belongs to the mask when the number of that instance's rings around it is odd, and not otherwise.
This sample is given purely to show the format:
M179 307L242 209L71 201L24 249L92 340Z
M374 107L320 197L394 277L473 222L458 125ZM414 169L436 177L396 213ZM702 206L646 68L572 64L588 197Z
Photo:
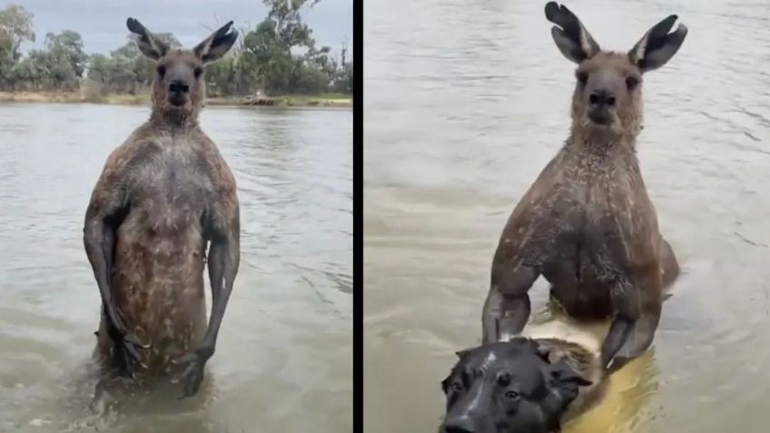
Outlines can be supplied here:
M235 180L198 124L204 65L226 54L238 34L231 21L192 50L172 50L136 19L126 25L157 65L153 108L108 157L85 212L85 252L102 299L94 355L104 369L134 379L179 365L183 397L190 397L214 354L240 261Z

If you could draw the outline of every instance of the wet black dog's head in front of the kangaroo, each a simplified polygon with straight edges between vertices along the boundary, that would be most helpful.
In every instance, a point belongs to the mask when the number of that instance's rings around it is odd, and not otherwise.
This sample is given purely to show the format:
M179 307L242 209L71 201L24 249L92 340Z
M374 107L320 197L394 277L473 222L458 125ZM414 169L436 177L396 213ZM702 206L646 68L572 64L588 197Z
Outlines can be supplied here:
M549 433L559 430L578 387L591 382L565 360L550 363L537 340L517 338L458 352L441 382L440 433Z

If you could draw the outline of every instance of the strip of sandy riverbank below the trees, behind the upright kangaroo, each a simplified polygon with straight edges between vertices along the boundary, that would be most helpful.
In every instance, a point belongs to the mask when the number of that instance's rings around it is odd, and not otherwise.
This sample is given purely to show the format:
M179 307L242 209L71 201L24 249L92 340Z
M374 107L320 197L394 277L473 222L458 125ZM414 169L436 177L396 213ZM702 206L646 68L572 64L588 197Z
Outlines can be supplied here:
M107 103L116 105L144 105L150 103L149 94L88 94L87 92L0 92L0 102L23 103ZM287 95L262 98L259 101L241 96L206 98L207 105L271 107L336 107L350 108L350 95L329 93L318 95Z

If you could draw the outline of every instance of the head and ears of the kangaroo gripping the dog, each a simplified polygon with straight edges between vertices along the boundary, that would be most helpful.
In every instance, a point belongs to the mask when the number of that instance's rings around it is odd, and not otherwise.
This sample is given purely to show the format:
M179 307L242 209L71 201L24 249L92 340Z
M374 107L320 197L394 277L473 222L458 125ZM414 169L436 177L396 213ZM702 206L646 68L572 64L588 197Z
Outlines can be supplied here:
M642 125L642 74L657 69L682 45L685 25L668 33L676 22L669 15L650 28L627 53L603 51L578 16L566 6L549 2L546 18L554 42L568 60L578 64L572 96L573 131L636 136Z

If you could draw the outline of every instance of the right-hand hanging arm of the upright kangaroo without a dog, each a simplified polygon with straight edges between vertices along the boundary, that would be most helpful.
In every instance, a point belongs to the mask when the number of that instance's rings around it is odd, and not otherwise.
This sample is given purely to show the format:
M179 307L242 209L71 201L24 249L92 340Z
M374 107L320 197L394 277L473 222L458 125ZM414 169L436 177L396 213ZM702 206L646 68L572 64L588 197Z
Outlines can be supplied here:
M183 397L190 397L198 392L203 379L203 368L216 349L222 317L232 292L232 282L238 273L241 256L239 233L240 223L236 215L235 220L232 221L232 227L212 236L208 255L209 280L212 286L212 315L200 346L181 360L185 366Z

